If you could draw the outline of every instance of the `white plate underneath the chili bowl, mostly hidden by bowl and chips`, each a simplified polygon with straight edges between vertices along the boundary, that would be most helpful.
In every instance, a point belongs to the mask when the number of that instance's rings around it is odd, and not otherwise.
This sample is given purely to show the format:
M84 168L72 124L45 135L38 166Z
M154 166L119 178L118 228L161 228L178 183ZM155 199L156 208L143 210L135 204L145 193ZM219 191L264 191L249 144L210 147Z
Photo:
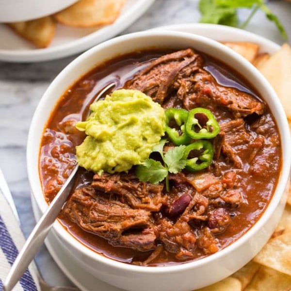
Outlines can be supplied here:
M274 53L279 49L279 46L274 42L258 36L251 32L246 32L240 29L210 25L210 24L184 24L184 25L171 25L160 27L158 29L173 30L181 32L190 32L203 36L210 37L214 40L220 41L250 41L256 42L260 45L261 51ZM32 196L33 199L33 196ZM32 203L33 212L36 220L40 218L40 212L37 210L35 203ZM76 265L71 257L66 254L64 247L59 242L56 234L50 232L46 246L49 249L50 255L53 257L55 262L58 264L60 269L65 275L82 291L121 291L116 287L110 286L89 273L85 273L80 266ZM56 282L57 284L57 282Z

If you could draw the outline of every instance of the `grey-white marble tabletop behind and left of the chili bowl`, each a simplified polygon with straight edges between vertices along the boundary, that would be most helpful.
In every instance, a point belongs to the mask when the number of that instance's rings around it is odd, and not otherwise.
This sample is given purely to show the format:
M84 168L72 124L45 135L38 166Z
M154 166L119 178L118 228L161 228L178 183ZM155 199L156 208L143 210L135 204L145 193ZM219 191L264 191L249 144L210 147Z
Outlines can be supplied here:
M199 21L198 0L156 0L146 13L124 33L142 31L162 25L195 23ZM291 4L283 0L268 1L269 7L280 17L291 41ZM240 18L247 16L240 13ZM283 39L273 23L257 13L249 26L251 32L282 44ZM12 192L19 213L21 227L27 237L35 225L26 171L26 142L33 112L57 74L76 55L64 59L28 64L0 62L0 168ZM71 283L54 263L45 246L36 263L51 284Z

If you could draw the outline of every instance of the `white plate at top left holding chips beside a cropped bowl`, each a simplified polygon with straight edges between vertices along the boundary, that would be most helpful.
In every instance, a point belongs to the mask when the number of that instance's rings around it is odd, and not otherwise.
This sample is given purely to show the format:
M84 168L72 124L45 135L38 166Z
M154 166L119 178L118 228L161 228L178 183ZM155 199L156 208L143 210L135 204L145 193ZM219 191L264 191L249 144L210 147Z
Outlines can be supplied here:
M36 49L7 25L0 24L0 61L40 62L79 53L125 30L142 16L153 2L154 0L127 0L116 21L97 31L94 28L58 24L52 43L46 49Z

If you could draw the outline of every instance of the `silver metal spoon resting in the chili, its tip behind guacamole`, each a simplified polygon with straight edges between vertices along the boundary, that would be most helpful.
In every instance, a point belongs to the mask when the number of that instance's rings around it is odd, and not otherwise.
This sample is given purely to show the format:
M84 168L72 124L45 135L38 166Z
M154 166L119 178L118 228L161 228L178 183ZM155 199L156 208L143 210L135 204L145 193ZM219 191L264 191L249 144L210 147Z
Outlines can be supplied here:
M96 102L104 93L106 93L115 83L110 83L106 86L95 98L93 102ZM4 282L3 290L11 291L16 283L19 281L21 276L25 273L27 267L32 262L39 248L44 243L50 227L56 220L59 212L61 211L68 195L70 194L72 187L75 182L76 173L79 169L77 164L70 174L69 178L66 180L65 184L54 197L52 202L49 204L49 208L40 218L39 222L34 226L32 233L25 242L23 248L19 252L15 262L13 263L10 272Z

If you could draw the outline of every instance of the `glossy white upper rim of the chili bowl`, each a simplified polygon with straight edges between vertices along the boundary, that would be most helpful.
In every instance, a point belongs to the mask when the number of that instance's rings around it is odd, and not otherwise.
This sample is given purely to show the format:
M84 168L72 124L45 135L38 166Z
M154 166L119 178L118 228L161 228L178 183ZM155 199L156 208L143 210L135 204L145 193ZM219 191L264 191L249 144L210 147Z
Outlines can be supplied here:
M200 35L196 35L193 33L189 33L189 32L172 32L172 31L159 31L159 30L152 30L152 31L146 31L146 32L134 32L134 33L115 37L111 40L108 40L104 43L97 45L96 47L94 47L92 49L89 49L88 51L84 52L79 57L77 57L69 65L67 65L63 69L63 71L56 77L56 79L49 85L49 88L47 89L47 91L45 92L43 97L41 98L41 100L36 108L36 111L33 115L33 118L32 118L32 123L31 123L31 128L29 131L29 137L28 137L28 143L27 143L27 167L28 167L29 181L30 181L30 185L32 187L32 195L33 195L33 188L35 185L35 181L33 181L33 179L35 178L35 177L33 177L33 174L34 174L32 171L33 167L30 166L31 157L33 155L33 153L30 151L30 148L32 147L32 143L33 143L33 134L34 134L33 129L35 127L33 125L37 123L38 116L41 114L42 109L45 107L44 105L45 105L46 99L49 97L49 92L53 90L53 87L58 82L58 80L60 79L61 76L65 76L65 74L67 74L67 72L69 72L72 68L74 68L76 65L78 65L80 62L82 62L87 57L90 57L91 54L94 54L99 49L114 45L116 43L119 43L120 41L127 41L131 38L134 38L134 37L147 37L148 35L186 37L186 38L191 38L193 40L200 41L200 42L207 42L208 44L212 45L215 49L218 49L218 50L226 50L227 53L232 58L238 59L238 61L242 64L242 66L248 68L250 71L253 71L253 73L256 74L258 76L258 78L260 79L260 81L264 84L264 86L266 86L268 88L268 91L270 92L270 94L272 94L273 96L276 97L275 91L273 90L273 88L271 87L269 82L265 78L263 78L263 76L260 75L259 71L254 70L253 65L248 63L242 56L238 55L233 50L226 48L224 45L222 45L222 44L220 44L217 41L214 41L212 39L209 39L209 38L206 38L206 37L203 37ZM76 80L74 80L74 81L76 81ZM72 84L74 83L74 81L72 81ZM285 113L284 113L284 110L283 110L281 103L278 101L277 98L274 98L274 99L275 99L274 101L277 105L277 110L280 112L280 115L285 116ZM271 111L272 111L272 109L271 109ZM291 139L290 139L290 132L289 132L289 126L288 126L287 119L282 117L281 122L283 124L283 127L282 127L281 132L280 132L281 143L282 143L282 139L285 138L286 139L285 140L285 144L286 144L285 147L291 148ZM284 145L282 143L282 147L283 146ZM268 219L270 218L270 215L274 212L274 210L276 209L276 207L280 203L280 198L283 195L284 188L288 182L290 166L291 166L291 154L287 153L287 150L285 150L285 154L287 155L287 157L285 159L283 159L283 152L282 152L281 174L280 174L279 182L276 186L276 190L273 194L272 200L270 201L267 209L264 211L264 213L259 218L257 223L254 226L252 226L246 233L244 233L242 235L242 237L237 239L232 244L228 245L227 247L220 250L219 252L212 254L211 256L202 258L202 259L198 259L198 260L194 260L194 261L187 261L187 262L184 262L181 264L170 265L170 266L143 267L143 266L130 265L130 264L126 264L126 263L119 262L119 261L116 261L114 259L110 259L110 258L107 258L105 256L102 256L102 255L98 254L97 252L91 250L89 247L82 245L76 238L74 238L71 234L69 234L65 230L65 228L61 225L60 222L55 222L53 227L56 230L57 234L59 236L61 236L63 239L65 239L65 242L67 242L69 245L71 245L75 249L78 248L78 250L83 255L85 255L87 257L91 257L91 258L96 259L97 261L99 261L101 263L104 263L104 264L111 266L113 268L118 268L118 269L123 270L123 271L133 271L133 272L137 272L137 273L146 273L146 274L152 274L152 273L159 274L159 273L175 273L177 271L180 272L180 271L183 271L186 269L196 268L200 265L207 264L214 259L219 259L219 258L223 257L225 254L227 254L228 252L231 252L234 249L238 248L240 245L242 245L247 240L249 240L250 237L252 237L268 221ZM40 183L39 177L37 177L37 180L38 180L38 183ZM41 203L39 203L40 201L39 201L39 199L37 199L38 196L34 195L34 197L36 198L37 204L40 207L41 211L44 213L48 207L48 205L46 205L45 200L43 199L43 201L41 201Z

